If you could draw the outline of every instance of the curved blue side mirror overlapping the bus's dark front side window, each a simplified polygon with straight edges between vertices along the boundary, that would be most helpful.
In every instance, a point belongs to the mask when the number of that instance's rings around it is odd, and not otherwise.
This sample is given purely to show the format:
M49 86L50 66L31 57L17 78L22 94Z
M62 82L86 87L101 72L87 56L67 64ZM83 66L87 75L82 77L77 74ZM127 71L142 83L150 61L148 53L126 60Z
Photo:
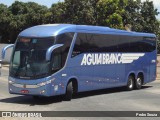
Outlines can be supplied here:
M51 46L50 48L48 48L47 52L46 52L46 61L49 61L51 59L51 54L53 52L53 50L62 47L64 44L56 44Z

